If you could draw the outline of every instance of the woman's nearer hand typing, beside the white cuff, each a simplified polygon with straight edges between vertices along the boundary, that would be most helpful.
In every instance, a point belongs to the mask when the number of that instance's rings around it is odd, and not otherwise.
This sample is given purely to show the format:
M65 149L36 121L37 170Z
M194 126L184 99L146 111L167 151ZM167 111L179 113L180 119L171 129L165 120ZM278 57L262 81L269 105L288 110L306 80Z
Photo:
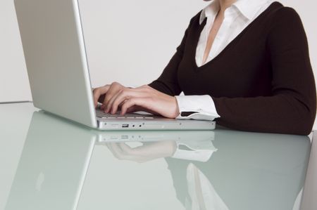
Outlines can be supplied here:
M120 114L137 110L146 110L168 118L175 118L180 114L175 97L156 91L147 85L119 91L108 102L105 111L115 114L119 107Z

